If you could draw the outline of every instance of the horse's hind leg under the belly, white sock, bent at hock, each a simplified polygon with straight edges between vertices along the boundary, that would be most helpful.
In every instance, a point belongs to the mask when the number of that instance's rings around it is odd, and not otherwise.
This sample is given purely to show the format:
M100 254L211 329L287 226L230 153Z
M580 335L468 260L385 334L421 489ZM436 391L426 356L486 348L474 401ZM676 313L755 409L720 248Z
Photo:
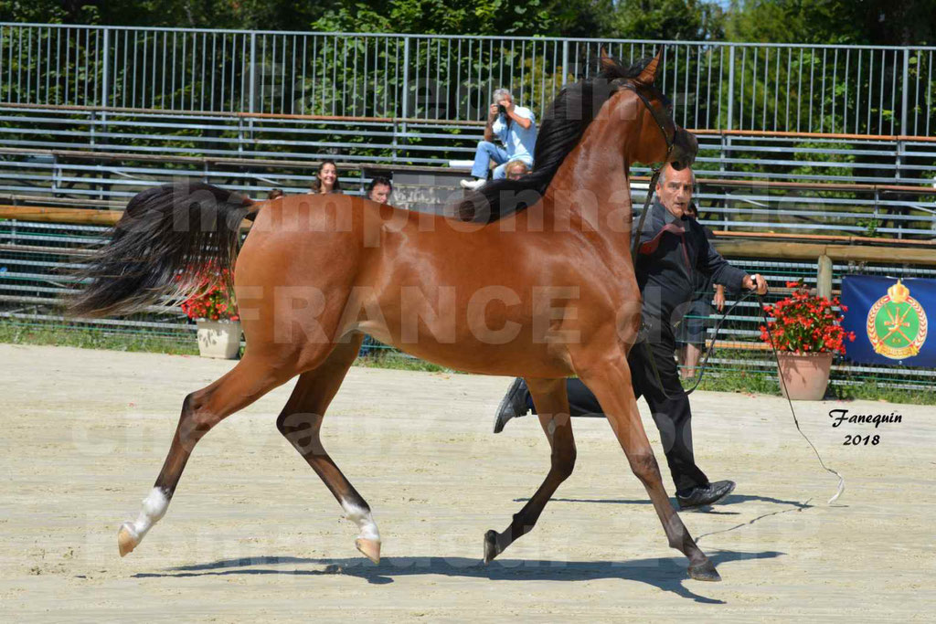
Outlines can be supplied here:
M340 344L315 370L300 375L292 396L276 419L276 428L305 458L344 508L344 514L358 525L358 550L374 563L380 561L380 533L371 515L371 507L358 494L325 452L319 436L322 419L331 399L344 381L344 375L360 349L363 335Z

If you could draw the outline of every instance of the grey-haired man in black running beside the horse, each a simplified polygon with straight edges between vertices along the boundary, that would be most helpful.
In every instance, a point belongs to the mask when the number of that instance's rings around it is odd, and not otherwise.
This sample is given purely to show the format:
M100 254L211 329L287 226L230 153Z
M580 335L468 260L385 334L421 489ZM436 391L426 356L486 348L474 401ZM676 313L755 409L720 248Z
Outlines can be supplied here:
M673 356L676 349L673 325L688 310L694 297L697 271L735 292L747 288L764 295L768 290L764 278L732 267L709 245L702 225L688 215L694 185L695 174L691 169L677 171L668 165L656 185L656 198L640 232L636 260L645 327L627 357L634 393L637 398L647 399L653 421L660 429L680 509L721 501L734 490L735 483L710 483L705 472L695 465L692 412ZM659 382L651 357L660 375ZM603 415L597 399L578 379L567 380L567 390L573 416ZM494 432L500 432L508 420L531 409L535 410L530 392L518 378L501 401Z

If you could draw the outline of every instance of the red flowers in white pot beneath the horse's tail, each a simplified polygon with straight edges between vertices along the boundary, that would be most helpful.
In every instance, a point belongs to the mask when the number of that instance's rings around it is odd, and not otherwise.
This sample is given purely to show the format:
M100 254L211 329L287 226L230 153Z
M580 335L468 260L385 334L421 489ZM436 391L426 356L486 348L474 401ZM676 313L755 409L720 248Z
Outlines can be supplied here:
M185 315L198 326L198 354L234 359L241 350L241 317L230 288L230 271L201 278L197 294L182 304Z

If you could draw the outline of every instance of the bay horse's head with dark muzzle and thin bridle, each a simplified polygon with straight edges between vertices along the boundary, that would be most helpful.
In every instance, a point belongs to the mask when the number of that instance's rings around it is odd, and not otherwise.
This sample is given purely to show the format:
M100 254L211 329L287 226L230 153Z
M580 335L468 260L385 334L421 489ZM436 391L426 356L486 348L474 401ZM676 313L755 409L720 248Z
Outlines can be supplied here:
M636 78L616 80L621 92L616 96L616 105L627 111L625 118L638 124L637 132L629 133L635 140L625 148L628 160L672 163L679 170L695 162L698 142L673 120L672 104L654 85L662 54L658 52Z

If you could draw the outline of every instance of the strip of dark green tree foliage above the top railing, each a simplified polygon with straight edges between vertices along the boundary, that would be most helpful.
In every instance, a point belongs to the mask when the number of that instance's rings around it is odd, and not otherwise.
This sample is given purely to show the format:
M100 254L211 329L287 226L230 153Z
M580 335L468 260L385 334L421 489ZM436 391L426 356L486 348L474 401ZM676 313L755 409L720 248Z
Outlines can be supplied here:
M936 0L0 0L0 21L922 45Z

